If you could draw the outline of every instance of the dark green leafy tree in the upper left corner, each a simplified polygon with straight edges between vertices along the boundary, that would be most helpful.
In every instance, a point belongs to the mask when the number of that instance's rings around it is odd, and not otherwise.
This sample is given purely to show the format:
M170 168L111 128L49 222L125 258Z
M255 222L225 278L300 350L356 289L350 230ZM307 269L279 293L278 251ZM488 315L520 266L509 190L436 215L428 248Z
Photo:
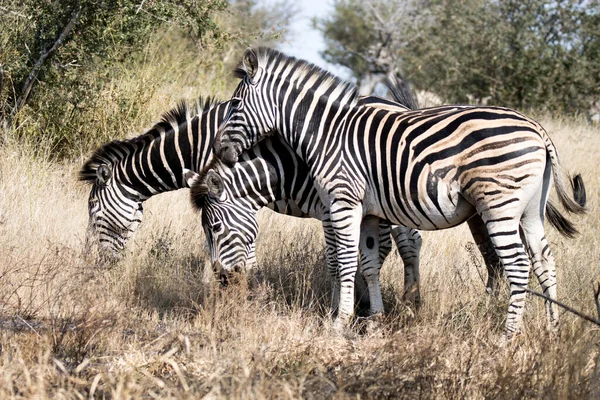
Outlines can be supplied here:
M199 43L209 33L222 35L211 15L225 7L223 0L9 1L1 10L0 31L6 35L2 44L7 51L0 64L6 67L12 90L5 94L0 112L10 124L36 83L49 83L52 72L78 68L94 56L106 59L114 55L115 46L124 55L165 24L180 24Z

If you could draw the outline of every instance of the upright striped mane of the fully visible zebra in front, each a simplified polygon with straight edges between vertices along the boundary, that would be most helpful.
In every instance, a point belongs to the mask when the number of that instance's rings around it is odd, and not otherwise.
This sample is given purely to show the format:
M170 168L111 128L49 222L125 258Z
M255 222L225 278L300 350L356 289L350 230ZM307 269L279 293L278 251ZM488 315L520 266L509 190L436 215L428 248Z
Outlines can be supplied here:
M345 81L331 72L324 70L318 65L312 64L306 60L295 58L293 56L288 56L269 47L258 47L252 50L256 54L259 67L262 67L263 70L270 74L274 73L281 63L293 65L294 72L288 76L288 79L291 78L295 82L301 82L306 81L307 78L311 76L318 77L323 81L321 86L328 85L329 87L342 88L342 92L339 94L338 98L341 99L347 96L352 104L356 104L356 102L359 100L358 88L354 83ZM285 68L281 68L280 70L283 71ZM247 75L243 61L237 65L233 71L233 74L235 77L240 79Z

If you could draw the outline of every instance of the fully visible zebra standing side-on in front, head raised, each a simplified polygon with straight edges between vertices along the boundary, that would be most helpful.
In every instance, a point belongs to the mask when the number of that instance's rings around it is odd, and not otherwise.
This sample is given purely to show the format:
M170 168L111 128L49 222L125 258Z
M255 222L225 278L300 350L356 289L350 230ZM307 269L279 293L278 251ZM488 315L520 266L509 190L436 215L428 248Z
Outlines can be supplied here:
M241 82L215 153L234 164L242 151L277 132L306 162L335 232L342 280L336 328L353 313L359 227L366 215L438 230L478 214L510 286L507 338L520 327L528 252L544 294L556 298L545 212L563 234L576 230L547 207L550 175L567 211L583 213L585 196L578 175L569 181L575 200L569 197L556 148L537 122L496 107L358 107L353 84L267 48L248 49L236 74ZM372 221L367 229L375 231ZM557 306L547 303L546 309L556 325Z

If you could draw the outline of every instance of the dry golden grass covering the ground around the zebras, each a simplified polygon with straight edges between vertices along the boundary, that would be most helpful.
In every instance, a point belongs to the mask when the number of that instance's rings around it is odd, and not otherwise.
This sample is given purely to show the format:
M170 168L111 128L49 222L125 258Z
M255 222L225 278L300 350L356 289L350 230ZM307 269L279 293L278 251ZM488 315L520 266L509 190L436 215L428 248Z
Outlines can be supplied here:
M574 240L551 228L560 300L594 315L598 128L542 118L590 212ZM397 254L383 269L388 315L332 332L316 221L261 217L258 285L204 283L204 237L187 191L153 198L125 259L85 250L79 165L0 149L0 398L597 398L598 328L569 314L545 331L530 298L524 333L501 346L507 294L484 295L465 227L424 234L423 307L402 305ZM532 281L533 282L533 281ZM537 283L532 285L537 288Z

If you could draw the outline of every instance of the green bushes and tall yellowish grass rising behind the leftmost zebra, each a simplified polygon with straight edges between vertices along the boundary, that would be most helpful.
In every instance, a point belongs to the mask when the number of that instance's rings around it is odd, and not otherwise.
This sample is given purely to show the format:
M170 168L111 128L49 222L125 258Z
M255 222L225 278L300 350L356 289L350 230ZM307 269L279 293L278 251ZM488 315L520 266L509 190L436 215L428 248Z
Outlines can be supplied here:
M254 3L242 1L8 0L1 8L0 121L53 157L113 139L160 87L198 85L203 66L224 69L232 46L278 33L258 32L274 14L255 18Z

